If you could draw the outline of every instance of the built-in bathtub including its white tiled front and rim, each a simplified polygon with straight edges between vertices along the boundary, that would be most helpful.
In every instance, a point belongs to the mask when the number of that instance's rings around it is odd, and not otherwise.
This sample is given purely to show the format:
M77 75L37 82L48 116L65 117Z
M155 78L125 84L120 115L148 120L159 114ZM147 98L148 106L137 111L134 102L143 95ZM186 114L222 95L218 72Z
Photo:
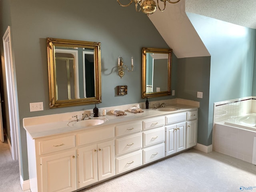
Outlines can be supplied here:
M213 150L256 165L256 114L215 123Z

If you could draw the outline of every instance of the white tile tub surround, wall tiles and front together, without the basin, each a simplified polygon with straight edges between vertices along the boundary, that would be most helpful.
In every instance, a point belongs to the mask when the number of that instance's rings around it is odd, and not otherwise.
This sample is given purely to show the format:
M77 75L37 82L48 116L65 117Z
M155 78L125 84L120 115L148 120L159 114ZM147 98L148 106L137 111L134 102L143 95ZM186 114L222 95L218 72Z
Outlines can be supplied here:
M256 97L245 97L214 103L213 150L229 156L254 162L256 131L224 125L230 119L256 113Z

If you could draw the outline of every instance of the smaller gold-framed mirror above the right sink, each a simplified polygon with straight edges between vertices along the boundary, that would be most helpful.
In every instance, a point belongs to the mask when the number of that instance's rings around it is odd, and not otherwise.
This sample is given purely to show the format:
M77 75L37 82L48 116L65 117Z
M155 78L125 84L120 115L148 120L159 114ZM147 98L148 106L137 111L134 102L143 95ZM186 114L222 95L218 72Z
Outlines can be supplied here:
M172 49L142 48L142 98L171 95Z

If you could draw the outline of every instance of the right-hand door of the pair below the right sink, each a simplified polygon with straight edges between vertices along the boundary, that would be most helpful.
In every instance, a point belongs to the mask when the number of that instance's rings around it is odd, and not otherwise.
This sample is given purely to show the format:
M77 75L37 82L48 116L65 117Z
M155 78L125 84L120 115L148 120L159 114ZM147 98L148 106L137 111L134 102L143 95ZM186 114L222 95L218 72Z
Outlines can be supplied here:
M176 152L186 149L186 123L177 124L176 139Z

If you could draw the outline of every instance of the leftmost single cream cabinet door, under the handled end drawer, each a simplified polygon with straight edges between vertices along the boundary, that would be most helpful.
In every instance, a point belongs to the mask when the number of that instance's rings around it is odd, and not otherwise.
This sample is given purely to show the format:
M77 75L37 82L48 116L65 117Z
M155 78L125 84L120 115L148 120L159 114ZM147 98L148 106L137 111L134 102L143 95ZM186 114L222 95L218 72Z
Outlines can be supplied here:
M76 151L42 157L41 174L43 192L76 190Z

